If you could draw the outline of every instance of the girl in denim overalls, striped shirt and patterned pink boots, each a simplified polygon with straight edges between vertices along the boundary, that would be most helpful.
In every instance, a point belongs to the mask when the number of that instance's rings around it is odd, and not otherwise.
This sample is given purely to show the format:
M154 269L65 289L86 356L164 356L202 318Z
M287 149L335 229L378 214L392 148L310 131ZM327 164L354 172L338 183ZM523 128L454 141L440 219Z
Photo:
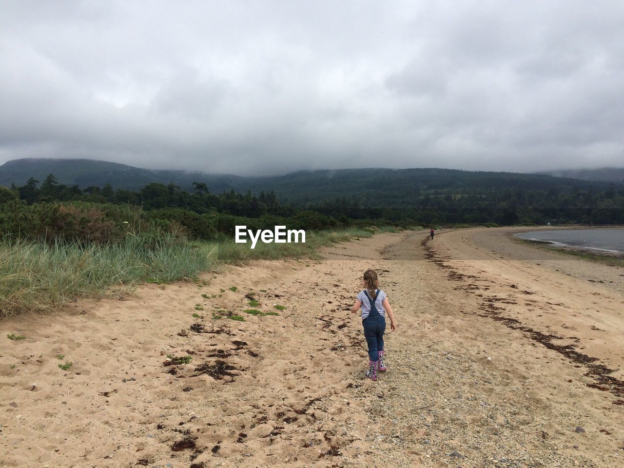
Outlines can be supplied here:
M392 331L396 330L394 313L388 303L388 297L384 291L378 289L377 273L374 270L366 270L364 273L364 289L358 294L351 313L357 313L362 309L362 324L364 326L364 338L368 344L368 371L366 377L377 380L377 371L385 371L384 364L384 331L386 331L386 313L390 318Z

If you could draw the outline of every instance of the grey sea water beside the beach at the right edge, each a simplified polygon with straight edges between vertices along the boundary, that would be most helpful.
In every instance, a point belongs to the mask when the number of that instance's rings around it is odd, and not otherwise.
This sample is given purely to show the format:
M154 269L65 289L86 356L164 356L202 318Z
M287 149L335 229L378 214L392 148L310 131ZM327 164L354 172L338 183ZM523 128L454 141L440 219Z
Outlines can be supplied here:
M624 255L624 228L531 231L518 233L515 236L525 240L550 242L562 247Z

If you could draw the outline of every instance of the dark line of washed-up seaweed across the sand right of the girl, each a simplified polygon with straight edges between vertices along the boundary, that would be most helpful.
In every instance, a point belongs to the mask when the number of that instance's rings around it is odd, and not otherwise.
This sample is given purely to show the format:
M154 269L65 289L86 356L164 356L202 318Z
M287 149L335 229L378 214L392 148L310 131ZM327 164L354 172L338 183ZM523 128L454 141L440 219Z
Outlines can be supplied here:
M455 268L453 268L451 265L447 265L446 263L444 263L444 261L439 258L433 251L428 241L428 238L424 238L421 241L421 245L425 250L425 258L427 258L427 260L431 261L432 263L435 263L440 268L453 270L451 271L451 273L449 273L449 279L453 281L463 281L464 278L466 278L466 275L463 275L462 273L457 273ZM472 293L472 291L466 288L462 288L462 290L468 293ZM603 364L597 364L598 358L593 358L591 356L587 356L587 354L579 353L575 349L577 347L576 344L566 344L562 346L560 344L553 343L553 340L555 339L573 339L578 343L578 338L566 338L564 336L558 336L552 333L544 334L541 331L537 331L533 328L523 325L519 320L515 318L500 316L501 311L504 311L505 308L494 306L492 304L492 301L485 300L484 302L480 303L479 309L484 311L485 313L475 313L477 316L491 318L495 321L501 322L502 324L507 326L507 328L522 331L522 333L524 333L527 338L542 344L548 349L557 351L557 353L562 354L573 363L585 366L585 368L587 368L588 370L587 373L583 374L583 376L591 378L595 382L586 384L588 387L610 392L616 397L624 398L624 381L609 375L614 373L615 369L610 369ZM617 400L614 402L614 404L624 404L624 401Z

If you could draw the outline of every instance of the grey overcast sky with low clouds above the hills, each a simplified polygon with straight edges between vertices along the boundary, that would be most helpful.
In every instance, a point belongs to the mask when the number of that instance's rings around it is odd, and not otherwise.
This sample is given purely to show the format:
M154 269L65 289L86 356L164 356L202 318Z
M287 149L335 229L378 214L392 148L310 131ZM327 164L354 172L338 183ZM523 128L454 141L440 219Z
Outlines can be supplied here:
M0 164L624 166L624 2L0 0Z

